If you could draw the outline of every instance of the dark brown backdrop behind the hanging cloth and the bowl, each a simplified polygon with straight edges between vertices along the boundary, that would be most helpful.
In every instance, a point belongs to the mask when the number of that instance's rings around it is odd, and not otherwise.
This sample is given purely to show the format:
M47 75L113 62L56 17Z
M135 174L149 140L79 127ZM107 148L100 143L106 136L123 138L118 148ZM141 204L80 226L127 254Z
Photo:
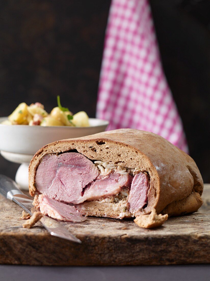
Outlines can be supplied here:
M190 155L210 182L210 1L151 0L164 70L183 120ZM95 116L110 0L0 1L0 110L22 101L50 111L61 96ZM18 165L0 157L0 173Z

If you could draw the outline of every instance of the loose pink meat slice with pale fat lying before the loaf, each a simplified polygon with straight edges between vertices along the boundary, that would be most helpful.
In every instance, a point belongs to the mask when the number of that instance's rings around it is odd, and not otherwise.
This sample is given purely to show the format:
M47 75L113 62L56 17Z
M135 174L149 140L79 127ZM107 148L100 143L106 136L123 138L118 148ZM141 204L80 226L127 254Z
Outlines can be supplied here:
M50 199L42 194L39 195L38 199L40 212L44 215L62 221L82 222L86 220L74 206Z

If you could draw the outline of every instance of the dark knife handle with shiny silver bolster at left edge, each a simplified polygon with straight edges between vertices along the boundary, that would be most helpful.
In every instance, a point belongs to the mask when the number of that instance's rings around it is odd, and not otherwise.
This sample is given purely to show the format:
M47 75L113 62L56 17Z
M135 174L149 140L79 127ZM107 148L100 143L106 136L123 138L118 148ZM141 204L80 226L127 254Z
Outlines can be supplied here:
M12 200L15 194L24 194L17 183L7 176L0 175L0 194L5 198Z

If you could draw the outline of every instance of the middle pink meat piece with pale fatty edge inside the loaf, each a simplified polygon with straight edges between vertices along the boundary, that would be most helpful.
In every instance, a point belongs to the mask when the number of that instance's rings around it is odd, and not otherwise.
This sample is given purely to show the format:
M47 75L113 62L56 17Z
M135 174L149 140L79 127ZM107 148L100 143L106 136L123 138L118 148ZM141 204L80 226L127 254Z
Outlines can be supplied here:
M120 175L113 172L107 176L98 175L97 178L89 183L84 190L83 196L75 200L74 204L80 204L84 201L93 201L100 198L116 195L121 191L121 187L131 187L131 175Z

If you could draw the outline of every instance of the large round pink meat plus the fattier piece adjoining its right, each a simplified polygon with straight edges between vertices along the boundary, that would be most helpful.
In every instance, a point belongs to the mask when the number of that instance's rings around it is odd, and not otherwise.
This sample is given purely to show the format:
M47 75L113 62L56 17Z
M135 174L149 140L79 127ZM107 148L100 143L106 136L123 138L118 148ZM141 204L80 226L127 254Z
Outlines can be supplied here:
M131 186L132 176L111 172L98 175L96 166L84 155L74 152L45 155L36 173L36 188L43 195L80 204L116 195L121 187Z

